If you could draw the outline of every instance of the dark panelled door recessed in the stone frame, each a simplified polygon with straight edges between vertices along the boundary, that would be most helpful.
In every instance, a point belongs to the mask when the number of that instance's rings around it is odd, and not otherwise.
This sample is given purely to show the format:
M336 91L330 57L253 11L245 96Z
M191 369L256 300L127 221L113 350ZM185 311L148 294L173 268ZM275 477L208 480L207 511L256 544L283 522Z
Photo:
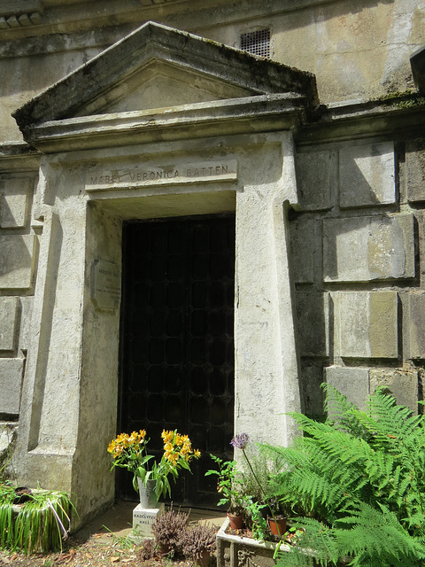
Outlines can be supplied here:
M233 216L123 228L120 431L145 429L157 458L163 429L188 434L201 458L172 500L199 508L217 501L210 453L232 458L234 274ZM129 477L120 496L136 500Z

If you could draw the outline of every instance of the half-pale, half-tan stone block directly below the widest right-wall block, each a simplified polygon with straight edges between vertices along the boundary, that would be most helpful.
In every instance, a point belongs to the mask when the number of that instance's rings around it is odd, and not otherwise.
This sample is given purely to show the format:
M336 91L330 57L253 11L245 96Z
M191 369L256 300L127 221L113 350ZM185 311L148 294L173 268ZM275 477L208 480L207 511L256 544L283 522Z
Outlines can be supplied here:
M333 297L339 356L398 358L396 291L347 291Z

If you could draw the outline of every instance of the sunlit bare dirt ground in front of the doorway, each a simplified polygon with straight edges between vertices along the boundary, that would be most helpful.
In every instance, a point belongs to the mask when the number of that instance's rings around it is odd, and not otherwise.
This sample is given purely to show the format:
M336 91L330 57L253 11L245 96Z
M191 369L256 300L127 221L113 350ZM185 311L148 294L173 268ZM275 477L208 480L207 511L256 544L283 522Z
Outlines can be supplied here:
M143 560L140 545L134 544L128 537L132 531L134 508L135 503L131 502L114 506L66 540L61 553L23 555L0 550L0 567L189 567L191 562L158 556L149 561ZM213 524L218 529L224 517L213 511L192 510L189 522L198 521ZM214 557L212 565L213 561Z

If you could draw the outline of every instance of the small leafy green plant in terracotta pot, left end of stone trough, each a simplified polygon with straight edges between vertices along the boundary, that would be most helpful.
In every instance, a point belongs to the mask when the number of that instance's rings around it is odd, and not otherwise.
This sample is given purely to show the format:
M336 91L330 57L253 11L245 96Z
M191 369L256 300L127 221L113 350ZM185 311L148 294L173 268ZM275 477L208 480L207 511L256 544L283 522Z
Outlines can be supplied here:
M243 527L244 501L242 479L237 470L236 461L223 461L213 454L210 456L213 462L217 463L218 470L208 470L205 472L205 477L210 475L218 477L217 491L221 495L218 505L228 507L227 515L230 527L234 530L241 529Z

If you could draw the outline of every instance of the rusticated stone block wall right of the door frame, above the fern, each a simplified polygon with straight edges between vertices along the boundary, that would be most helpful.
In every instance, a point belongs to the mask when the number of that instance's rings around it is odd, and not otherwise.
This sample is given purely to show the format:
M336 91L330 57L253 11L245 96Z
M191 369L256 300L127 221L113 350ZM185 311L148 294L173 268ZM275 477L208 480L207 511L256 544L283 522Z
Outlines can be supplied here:
M301 146L290 221L303 409L321 382L418 410L425 368L425 140Z

